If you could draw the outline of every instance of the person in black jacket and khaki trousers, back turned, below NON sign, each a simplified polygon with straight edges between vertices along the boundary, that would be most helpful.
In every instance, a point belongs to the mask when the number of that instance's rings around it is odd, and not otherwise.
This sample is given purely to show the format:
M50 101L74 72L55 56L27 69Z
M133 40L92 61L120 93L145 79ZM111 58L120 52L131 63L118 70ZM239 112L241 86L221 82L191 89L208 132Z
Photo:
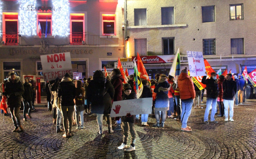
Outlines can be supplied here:
M73 83L71 76L66 73L64 77L62 78L61 82L59 83L58 89L58 100L60 102L61 107L61 113L63 116L63 127L64 132L62 136L64 138L71 137L74 135L72 133L72 125L73 125L73 112L74 112L74 98L76 96L76 86ZM68 120L68 126L67 126L67 120Z

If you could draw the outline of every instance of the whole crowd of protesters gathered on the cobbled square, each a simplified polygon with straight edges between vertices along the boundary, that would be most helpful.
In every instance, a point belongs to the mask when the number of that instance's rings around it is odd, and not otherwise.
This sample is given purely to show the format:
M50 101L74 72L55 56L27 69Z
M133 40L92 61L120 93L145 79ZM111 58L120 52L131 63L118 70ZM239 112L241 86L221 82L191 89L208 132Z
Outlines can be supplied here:
M206 73L207 75L207 73ZM234 106L238 106L244 102L244 90L246 82L240 76L227 74L219 75L212 72L211 77L207 79L204 76L202 83L206 85L206 108L204 113L204 123L218 123L214 116L217 114L217 106L219 107L219 115L225 116L224 121L234 121ZM176 80L175 80L176 79ZM116 117L115 125L112 126L110 117L112 103L121 100L136 99L134 90L134 75L129 75L128 83L123 84L124 77L119 69L113 69L111 76L106 76L101 70L96 70L92 78L84 78L81 80L72 80L71 76L66 73L62 79L49 81L46 84L48 111L52 112L53 124L56 124L56 132L64 134L64 138L74 135L72 126L76 125L76 129L84 128L84 113L95 114L99 130L97 134L103 134L102 125L103 117L108 125L108 133L123 130L123 142L118 149L125 151L135 150L136 134L135 120L140 115L131 115ZM181 120L181 131L192 131L187 125L192 107L203 108L201 102L203 100L204 89L200 90L192 81L192 77L188 75L187 67L183 69L178 76L166 76L156 74L155 79L142 79L143 91L140 98L153 98L152 114L155 114L156 122L153 127L165 127L166 118L174 118ZM15 128L23 131L20 122L19 110L23 103L23 120L31 119L31 111L35 110L35 90L33 79L25 79L24 83L15 73L11 73L8 80L1 83L0 97L7 97L7 106L9 107ZM28 110L27 110L28 107ZM118 107L118 106L116 106ZM210 121L208 116L210 114ZM228 112L229 110L229 112ZM8 113L7 113L8 115ZM74 117L75 116L75 117ZM141 114L141 126L149 126L149 114ZM63 123L63 129L61 126ZM131 134L130 146L127 147L128 135Z

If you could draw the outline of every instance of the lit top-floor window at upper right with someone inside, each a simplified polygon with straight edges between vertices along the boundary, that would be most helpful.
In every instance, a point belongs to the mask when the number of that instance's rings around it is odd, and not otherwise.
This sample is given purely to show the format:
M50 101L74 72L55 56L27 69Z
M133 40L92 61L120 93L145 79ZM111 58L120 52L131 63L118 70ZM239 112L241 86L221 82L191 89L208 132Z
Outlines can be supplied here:
M244 19L244 8L242 4L230 4L230 19L229 20L243 20Z

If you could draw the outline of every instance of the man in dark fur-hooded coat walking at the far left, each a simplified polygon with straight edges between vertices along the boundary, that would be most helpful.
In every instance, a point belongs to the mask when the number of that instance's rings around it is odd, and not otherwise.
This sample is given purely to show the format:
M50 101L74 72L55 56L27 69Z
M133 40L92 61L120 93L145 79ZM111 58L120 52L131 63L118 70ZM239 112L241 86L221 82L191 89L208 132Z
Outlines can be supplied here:
M2 94L8 99L7 106L10 109L13 125L15 126L15 129L12 130L13 132L17 132L18 128L20 128L21 131L24 130L20 122L19 114L21 97L24 92L24 86L20 81L20 77L12 72L8 78L8 82L5 84L4 92Z

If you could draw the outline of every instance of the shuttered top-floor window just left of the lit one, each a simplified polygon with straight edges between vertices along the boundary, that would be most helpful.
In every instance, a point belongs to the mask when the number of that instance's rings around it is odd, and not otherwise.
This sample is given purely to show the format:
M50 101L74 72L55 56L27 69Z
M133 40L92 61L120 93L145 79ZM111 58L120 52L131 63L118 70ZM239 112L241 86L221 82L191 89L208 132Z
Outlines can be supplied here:
M203 23L215 21L215 6L202 7Z

